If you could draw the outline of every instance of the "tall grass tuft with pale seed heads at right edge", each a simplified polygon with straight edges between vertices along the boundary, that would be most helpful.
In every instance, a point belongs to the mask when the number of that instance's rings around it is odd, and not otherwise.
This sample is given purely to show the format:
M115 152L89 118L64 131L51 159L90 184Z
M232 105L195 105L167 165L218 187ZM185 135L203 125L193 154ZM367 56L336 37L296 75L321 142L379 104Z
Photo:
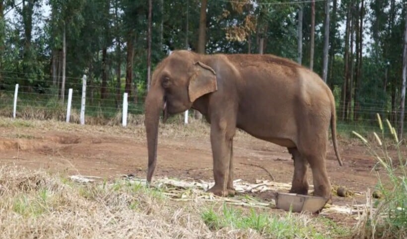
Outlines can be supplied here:
M377 115L377 119L381 135L384 137L384 128L379 115ZM407 156L401 153L401 142L399 142L394 127L389 120L386 119L386 122L393 135L392 146L398 151L396 160L389 156L387 144L381 143L377 133L374 132L374 137L378 147L356 132L354 133L377 160L375 168L383 167L386 170L385 180L377 174L376 187L383 198L374 202L370 193L366 195L368 206L365 208L365 213L360 216L355 230L358 238L407 238ZM388 181L388 183L384 183L384 181Z

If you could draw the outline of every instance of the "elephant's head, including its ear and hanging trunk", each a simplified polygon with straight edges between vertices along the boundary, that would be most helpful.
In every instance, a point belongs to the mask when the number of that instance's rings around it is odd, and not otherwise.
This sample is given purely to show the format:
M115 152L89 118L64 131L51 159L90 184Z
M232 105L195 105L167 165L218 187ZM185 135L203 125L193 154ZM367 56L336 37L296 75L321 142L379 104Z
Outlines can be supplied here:
M145 128L148 147L147 181L151 181L157 161L158 122L168 115L190 109L195 100L217 90L216 73L202 62L203 56L176 51L162 60L153 72L145 99Z

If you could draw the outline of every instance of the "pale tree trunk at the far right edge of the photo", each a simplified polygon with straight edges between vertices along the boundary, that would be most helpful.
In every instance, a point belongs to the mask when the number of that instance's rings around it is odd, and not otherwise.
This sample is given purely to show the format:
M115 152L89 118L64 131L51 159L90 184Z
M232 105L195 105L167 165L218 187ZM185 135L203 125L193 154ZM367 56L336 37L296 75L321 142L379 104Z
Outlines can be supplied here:
M400 119L399 119L399 140L403 139L403 126L404 126L404 106L406 103L406 78L407 78L407 11L406 11L406 25L404 27L404 51L403 51L403 82L402 82L402 95L400 100Z

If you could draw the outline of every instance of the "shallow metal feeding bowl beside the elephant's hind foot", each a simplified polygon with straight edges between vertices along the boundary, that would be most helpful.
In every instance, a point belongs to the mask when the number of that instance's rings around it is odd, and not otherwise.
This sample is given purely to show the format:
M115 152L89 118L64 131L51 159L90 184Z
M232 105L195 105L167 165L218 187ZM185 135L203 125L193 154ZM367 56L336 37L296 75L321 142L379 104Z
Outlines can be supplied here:
M296 193L277 193L276 207L285 211L316 213L321 211L329 198Z

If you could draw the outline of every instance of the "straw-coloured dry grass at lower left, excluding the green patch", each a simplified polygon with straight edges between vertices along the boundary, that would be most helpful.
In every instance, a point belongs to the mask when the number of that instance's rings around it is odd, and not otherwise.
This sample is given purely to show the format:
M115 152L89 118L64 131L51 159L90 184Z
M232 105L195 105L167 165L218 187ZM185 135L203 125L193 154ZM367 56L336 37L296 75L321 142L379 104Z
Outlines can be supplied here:
M253 230L211 232L197 202L120 183L81 185L45 172L0 168L2 238L260 238Z

